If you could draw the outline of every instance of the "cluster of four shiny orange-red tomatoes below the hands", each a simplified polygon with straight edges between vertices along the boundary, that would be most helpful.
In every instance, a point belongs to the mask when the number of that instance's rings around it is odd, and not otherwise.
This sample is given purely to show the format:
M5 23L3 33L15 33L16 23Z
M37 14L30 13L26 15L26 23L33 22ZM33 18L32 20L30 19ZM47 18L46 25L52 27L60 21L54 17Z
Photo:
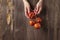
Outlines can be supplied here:
M40 29L41 28L41 22L42 22L42 19L40 17L37 17L34 12L30 12L29 13L29 18L30 18L30 21L29 21L29 24L30 26L34 26L35 29Z

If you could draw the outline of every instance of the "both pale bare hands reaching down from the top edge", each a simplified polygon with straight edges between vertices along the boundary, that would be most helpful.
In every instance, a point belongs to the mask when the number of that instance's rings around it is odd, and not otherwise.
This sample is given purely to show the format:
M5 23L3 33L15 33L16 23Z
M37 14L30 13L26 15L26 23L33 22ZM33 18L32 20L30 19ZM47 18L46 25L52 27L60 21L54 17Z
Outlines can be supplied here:
M34 13L37 15L41 12L42 10L42 2L43 0L39 0L34 8ZM30 5L27 2L27 0L23 0L24 3L24 11L25 11L25 16L29 18L28 13L30 13Z

